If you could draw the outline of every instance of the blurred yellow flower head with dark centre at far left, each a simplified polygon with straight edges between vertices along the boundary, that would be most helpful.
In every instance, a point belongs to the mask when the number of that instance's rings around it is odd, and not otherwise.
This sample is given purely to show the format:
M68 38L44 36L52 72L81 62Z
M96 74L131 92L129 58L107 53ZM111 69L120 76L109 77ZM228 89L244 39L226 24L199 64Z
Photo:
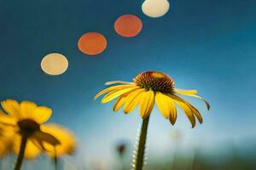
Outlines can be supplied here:
M4 100L1 105L7 114L0 111L0 124L5 127L5 136L12 139L16 154L20 151L21 138L26 138L26 158L38 156L44 150L44 143L60 144L52 134L41 130L42 127L47 127L44 122L47 122L52 114L48 107L38 106L30 101L22 101L19 104L14 99Z

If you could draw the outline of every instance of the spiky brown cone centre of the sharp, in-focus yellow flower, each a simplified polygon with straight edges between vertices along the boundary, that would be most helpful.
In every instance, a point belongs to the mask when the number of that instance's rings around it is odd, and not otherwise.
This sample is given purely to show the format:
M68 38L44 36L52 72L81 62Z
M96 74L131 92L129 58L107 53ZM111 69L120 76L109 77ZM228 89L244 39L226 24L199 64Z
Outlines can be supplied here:
M134 82L142 88L155 92L172 93L174 82L171 77L157 71L145 71L134 78Z

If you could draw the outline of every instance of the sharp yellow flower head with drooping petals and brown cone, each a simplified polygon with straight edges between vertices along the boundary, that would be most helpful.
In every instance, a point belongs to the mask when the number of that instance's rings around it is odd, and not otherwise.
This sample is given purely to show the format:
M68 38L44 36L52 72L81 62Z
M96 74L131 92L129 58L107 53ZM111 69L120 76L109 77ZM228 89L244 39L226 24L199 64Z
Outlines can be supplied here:
M122 82L114 81L107 82L107 85L117 84L113 87L106 88L100 93L96 94L97 99L102 94L106 94L102 103L108 103L109 101L118 98L114 105L113 111L119 111L123 106L123 111L128 114L133 111L137 105L140 106L140 115L143 119L149 116L151 113L154 103L157 105L161 114L170 122L172 125L175 124L177 119L177 108L178 105L183 109L185 114L188 116L192 127L195 127L195 117L199 122L202 122L200 112L195 107L189 104L188 101L182 99L178 94L202 99L196 95L196 90L182 90L174 88L174 81L171 77L164 73L157 71L145 71L137 75L133 79L133 82ZM205 99L207 109L210 109L210 105Z

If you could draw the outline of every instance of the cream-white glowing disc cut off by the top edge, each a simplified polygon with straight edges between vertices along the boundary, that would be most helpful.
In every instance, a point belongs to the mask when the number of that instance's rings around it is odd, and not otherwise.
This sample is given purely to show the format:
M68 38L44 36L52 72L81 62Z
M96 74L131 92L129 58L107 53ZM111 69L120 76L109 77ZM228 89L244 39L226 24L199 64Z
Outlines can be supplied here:
M165 15L170 8L167 0L145 0L142 6L143 13L152 18Z

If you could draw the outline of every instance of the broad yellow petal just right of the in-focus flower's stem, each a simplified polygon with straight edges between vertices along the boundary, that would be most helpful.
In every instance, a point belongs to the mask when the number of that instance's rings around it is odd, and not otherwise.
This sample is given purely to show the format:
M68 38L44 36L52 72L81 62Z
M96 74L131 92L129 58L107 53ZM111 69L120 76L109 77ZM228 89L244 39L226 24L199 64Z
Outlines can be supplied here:
M159 92L155 95L155 103L160 113L166 117L166 119L169 119L173 125L177 119L177 110L172 98Z

